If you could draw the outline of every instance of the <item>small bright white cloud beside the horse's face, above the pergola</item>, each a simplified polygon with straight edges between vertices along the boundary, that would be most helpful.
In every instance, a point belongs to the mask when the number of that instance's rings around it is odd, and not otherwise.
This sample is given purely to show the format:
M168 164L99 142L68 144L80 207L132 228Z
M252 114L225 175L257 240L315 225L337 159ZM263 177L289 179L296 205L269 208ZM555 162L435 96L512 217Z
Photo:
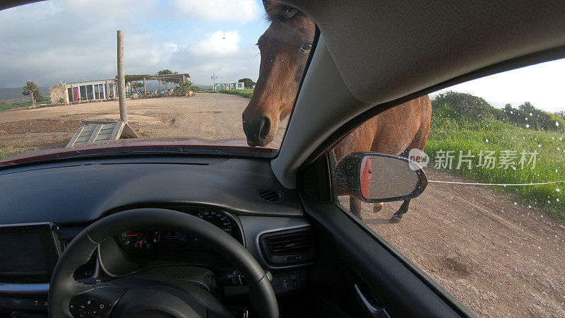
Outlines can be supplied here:
M239 42L242 40L239 31L221 31L208 35L196 45L189 47L191 53L196 55L226 56L239 52Z

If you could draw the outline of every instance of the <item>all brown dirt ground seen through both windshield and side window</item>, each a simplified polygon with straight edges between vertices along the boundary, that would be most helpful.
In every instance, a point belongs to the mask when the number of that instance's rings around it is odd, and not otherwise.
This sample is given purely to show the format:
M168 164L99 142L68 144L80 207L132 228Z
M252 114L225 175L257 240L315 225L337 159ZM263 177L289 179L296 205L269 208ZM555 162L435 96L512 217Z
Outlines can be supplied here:
M248 100L198 93L192 98L128 100L129 121L145 137L244 139ZM0 150L65 146L81 119L119 118L117 102L0 112ZM285 120L271 145L283 139ZM465 181L427 169L430 180ZM347 206L347 200L344 201ZM565 227L509 194L430 183L399 224L400 204L362 217L458 300L482 317L565 317Z

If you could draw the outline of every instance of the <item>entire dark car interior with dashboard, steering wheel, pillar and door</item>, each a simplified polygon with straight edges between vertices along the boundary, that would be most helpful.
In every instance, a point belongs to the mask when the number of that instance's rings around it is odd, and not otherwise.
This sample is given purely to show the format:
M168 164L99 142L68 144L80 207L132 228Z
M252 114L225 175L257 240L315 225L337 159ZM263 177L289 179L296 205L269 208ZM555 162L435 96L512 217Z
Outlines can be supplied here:
M1 317L474 316L338 204L331 149L412 98L565 57L565 3L284 2L316 37L273 158L226 146L0 167Z

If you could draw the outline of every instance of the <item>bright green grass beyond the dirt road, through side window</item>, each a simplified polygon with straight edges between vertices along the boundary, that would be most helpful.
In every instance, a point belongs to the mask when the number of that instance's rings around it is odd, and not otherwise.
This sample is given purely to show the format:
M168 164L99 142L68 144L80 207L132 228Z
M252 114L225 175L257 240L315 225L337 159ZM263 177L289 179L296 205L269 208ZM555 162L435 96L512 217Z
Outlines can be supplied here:
M434 116L425 151L432 160L439 151L455 151L453 166L447 170L478 182L521 184L565 180L565 136L561 132L519 128L496 119L473 122L465 117ZM460 151L463 155L468 151L475 155L472 169L466 164L457 169ZM499 168L499 158L496 158L493 169L477 167L480 151L495 151L496 157L501 151L516 151L516 170ZM525 165L524 169L518 165L522 151L537 151L534 169L530 169L531 164ZM543 208L557 218L565 216L565 183L489 188L518 194L531 206Z

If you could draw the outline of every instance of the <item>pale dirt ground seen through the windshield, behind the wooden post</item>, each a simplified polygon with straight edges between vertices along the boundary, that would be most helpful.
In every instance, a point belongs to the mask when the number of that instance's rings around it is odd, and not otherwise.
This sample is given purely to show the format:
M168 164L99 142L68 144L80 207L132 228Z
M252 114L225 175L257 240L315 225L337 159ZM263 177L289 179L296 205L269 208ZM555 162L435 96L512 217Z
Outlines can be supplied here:
M245 139L242 112L249 102L237 95L198 93L191 98L127 100L128 119L142 137ZM118 102L16 109L0 112L0 148L64 147L81 120L119 120ZM283 140L281 122L271 146Z

